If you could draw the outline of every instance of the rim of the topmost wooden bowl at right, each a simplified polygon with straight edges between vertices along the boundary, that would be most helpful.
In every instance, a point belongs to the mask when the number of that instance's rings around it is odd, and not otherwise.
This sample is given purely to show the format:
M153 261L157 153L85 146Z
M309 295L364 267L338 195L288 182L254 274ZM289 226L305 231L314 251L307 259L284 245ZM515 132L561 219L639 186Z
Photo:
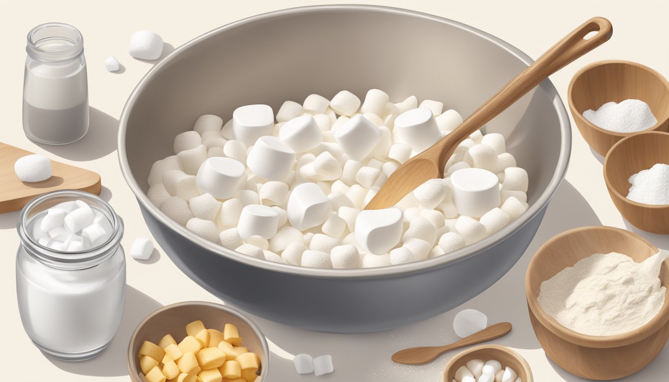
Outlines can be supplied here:
M660 128L663 124L665 124L667 122L667 120L669 120L669 113L667 114L666 118L664 118L663 120L658 120L658 122L656 124L654 124L653 126L650 126L649 128L646 128L644 130L639 130L639 131L634 131L634 132L617 132L617 131L606 130L605 128L601 128L601 127L597 126L596 124L593 124L592 122L587 120L587 118L585 118L583 116L583 114L581 114L581 112L579 112L579 110L577 110L576 105L574 104L574 100L571 96L571 94L573 92L573 87L574 87L575 82L577 80L579 80L579 78L581 78L581 76L583 76L583 74L585 74L585 72L589 72L590 70L592 70L594 68L597 68L599 66L615 65L615 64L626 64L626 65L636 66L637 68L640 68L642 70L646 70L646 72L649 72L650 74L653 74L655 76L655 78L660 80L660 82L662 82L662 84L664 84L664 87L669 92L669 81L664 76L662 76L662 74L660 74L660 72L658 72L657 70L654 70L653 68L649 68L648 66L645 66L644 64L639 64L638 62L628 61L628 60L601 60L601 61L593 62L593 63L588 64L586 66L583 66L583 68L579 69L579 71L576 72L576 74L574 74L574 76L571 78L571 81L569 81L569 87L567 88L567 103L569 103L569 110L571 110L571 115L574 117L575 122L577 122L577 124L581 124L581 123L585 124L585 126L591 128L593 130L596 130L598 132L601 132L603 134L607 134L607 135L610 135L610 136L617 136L619 138L626 138L626 137L632 136L634 134L639 134L640 132L651 132L651 131L655 131L658 128Z

